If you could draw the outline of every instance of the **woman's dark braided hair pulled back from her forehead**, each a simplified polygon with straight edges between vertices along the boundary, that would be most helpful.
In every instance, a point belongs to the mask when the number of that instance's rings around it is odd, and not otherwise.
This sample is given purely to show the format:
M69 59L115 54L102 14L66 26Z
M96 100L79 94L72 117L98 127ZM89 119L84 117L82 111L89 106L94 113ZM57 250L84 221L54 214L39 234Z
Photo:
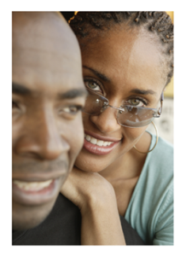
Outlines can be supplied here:
M109 29L113 24L123 22L127 22L128 26L146 26L149 32L159 36L166 49L167 62L170 67L166 84L171 81L174 34L171 17L166 12L78 12L68 22L79 39L88 37L91 29L102 31Z

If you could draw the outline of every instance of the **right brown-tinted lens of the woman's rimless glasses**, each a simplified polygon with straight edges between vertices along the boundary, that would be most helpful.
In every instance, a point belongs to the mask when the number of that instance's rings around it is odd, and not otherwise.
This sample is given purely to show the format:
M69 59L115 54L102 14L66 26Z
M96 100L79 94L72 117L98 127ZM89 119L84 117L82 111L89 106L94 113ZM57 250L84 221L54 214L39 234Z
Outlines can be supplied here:
M135 108L131 106L122 106L125 110L118 113L119 125L127 127L142 127L148 125L154 119L157 112L151 108Z

